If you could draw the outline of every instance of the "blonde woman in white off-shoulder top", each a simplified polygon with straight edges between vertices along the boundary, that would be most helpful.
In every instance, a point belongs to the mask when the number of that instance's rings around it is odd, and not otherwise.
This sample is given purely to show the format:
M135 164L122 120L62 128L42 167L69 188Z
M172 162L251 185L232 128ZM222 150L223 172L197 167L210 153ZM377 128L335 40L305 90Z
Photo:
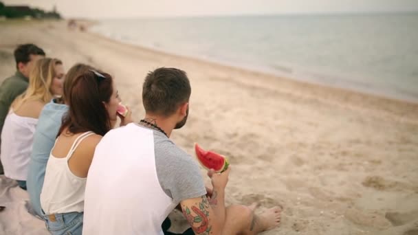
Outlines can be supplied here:
M14 100L1 132L1 162L4 175L17 180L26 190L32 142L41 110L54 96L63 94L64 69L61 60L43 58L29 75L28 89Z

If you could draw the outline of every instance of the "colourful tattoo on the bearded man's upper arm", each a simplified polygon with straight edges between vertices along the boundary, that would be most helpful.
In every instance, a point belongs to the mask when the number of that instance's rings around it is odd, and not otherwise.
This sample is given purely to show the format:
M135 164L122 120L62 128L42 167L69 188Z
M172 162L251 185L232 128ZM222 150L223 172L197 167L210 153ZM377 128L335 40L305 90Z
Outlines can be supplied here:
M182 207L182 211L188 223L192 226L192 230L195 231L196 234L209 235L212 231L212 227L208 227L208 208L210 205L208 199L206 199L206 196L202 196L201 199L202 200L199 203L199 208L197 208L195 205L192 205L191 208L185 206Z

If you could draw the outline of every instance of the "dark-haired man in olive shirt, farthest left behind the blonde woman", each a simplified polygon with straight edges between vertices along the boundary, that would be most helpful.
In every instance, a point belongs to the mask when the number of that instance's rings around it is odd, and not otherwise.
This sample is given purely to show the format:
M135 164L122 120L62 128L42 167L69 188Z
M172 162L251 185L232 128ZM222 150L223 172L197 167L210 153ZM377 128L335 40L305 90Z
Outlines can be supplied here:
M14 50L16 60L16 73L6 78L0 86L0 135L3 129L5 116L8 115L10 104L17 96L28 88L29 73L36 60L45 57L43 49L34 44L19 45ZM1 142L1 139L0 139ZM1 150L1 149L0 149ZM0 175L3 174L3 166L0 161Z

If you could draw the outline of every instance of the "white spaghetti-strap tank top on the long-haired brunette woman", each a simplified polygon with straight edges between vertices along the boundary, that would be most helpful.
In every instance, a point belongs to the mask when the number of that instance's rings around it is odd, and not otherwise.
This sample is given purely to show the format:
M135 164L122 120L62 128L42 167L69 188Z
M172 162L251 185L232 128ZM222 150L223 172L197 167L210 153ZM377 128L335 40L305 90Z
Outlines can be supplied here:
M67 157L54 157L51 150L41 192L41 207L45 214L83 212L87 178L74 175L69 170L68 161L78 144L89 135L94 133L89 131L79 135L69 149Z

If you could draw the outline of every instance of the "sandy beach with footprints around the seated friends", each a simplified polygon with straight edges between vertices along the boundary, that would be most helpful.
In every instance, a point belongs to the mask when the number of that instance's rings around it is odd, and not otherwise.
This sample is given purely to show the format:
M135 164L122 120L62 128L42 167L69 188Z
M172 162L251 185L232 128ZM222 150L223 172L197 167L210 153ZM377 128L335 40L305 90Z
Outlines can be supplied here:
M228 205L283 207L281 226L263 235L418 234L417 103L155 52L69 31L65 21L4 21L0 32L1 80L15 71L16 45L35 43L65 69L80 62L112 74L137 121L146 73L184 69L190 115L171 138L192 156L198 142L229 157ZM25 192L13 183L6 190L8 182L0 179L0 205L9 205L0 234L47 234L25 214ZM181 213L171 217L181 230Z

